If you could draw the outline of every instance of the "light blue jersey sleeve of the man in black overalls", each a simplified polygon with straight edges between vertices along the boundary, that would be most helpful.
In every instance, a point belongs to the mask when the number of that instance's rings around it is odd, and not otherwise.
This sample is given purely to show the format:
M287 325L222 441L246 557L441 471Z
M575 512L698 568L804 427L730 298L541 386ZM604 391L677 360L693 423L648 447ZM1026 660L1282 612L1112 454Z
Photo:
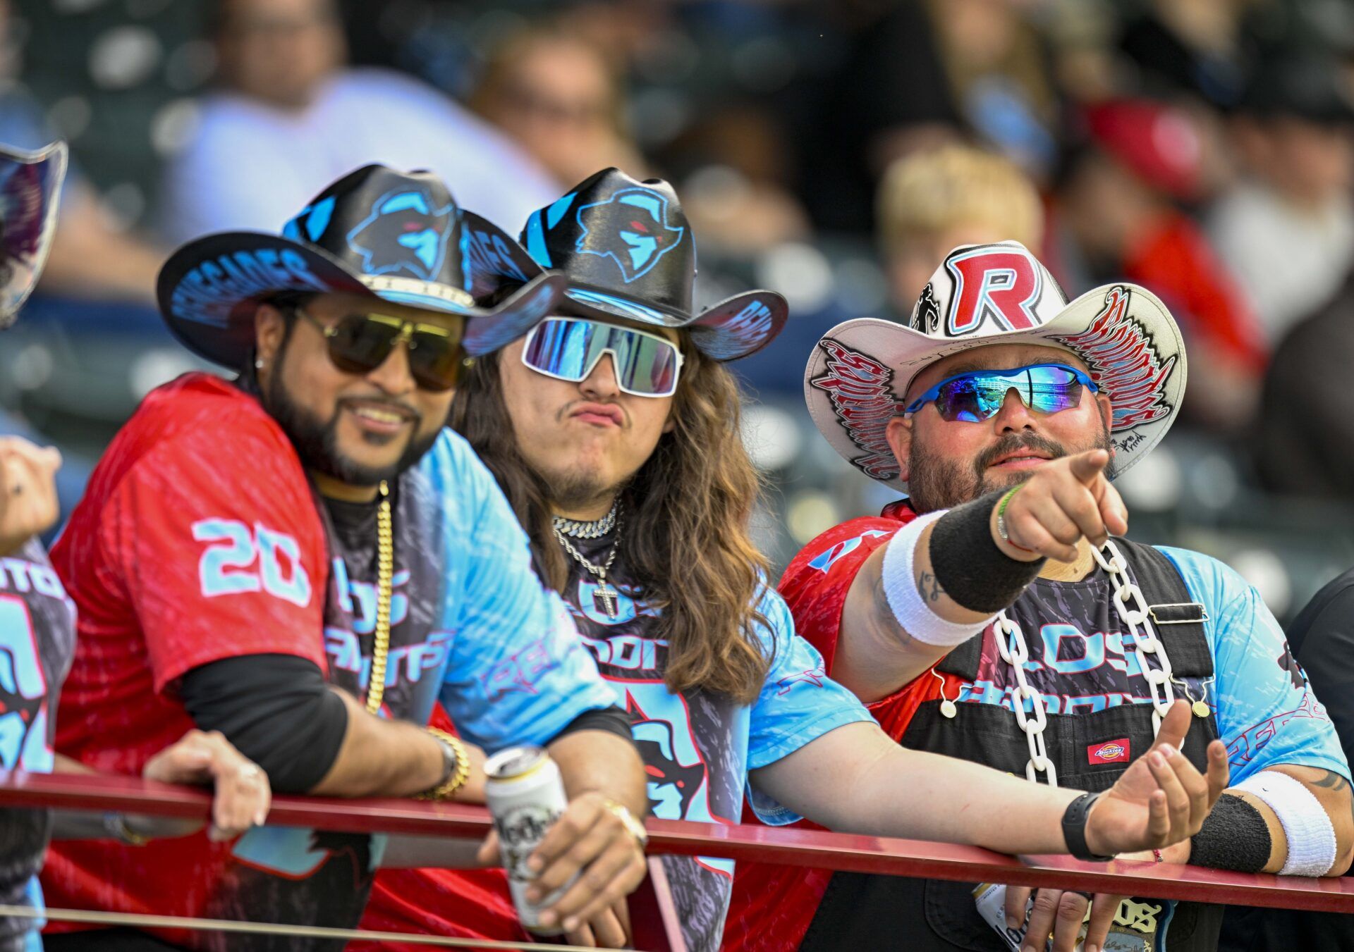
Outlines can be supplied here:
M1213 652L1209 700L1232 767L1232 783L1270 767L1317 767L1350 776L1335 726L1259 594L1215 558L1162 549L1208 610Z

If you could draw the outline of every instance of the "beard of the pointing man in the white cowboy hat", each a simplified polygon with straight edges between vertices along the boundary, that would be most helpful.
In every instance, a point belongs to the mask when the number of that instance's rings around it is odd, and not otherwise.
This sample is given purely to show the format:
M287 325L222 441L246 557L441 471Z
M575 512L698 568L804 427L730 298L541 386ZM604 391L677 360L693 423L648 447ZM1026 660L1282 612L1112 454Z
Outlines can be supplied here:
M1022 449L1032 449L1047 453L1049 458L1057 460L1064 456L1085 453L1091 449L1104 449L1110 454L1105 476L1114 479L1114 448L1109 441L1109 427L1105 419L1099 419L1099 433L1085 446L1071 449L1063 444L1041 437L1036 433L1007 433L995 444L984 449L971 464L956 460L945 460L932 453L923 441L913 438L911 453L907 458L909 480L907 494L913 511L918 515L934 513L940 508L953 508L971 502L997 490L1009 490L1024 483L1033 476L1037 469L1014 473L991 473L987 467L999 456L1014 453Z

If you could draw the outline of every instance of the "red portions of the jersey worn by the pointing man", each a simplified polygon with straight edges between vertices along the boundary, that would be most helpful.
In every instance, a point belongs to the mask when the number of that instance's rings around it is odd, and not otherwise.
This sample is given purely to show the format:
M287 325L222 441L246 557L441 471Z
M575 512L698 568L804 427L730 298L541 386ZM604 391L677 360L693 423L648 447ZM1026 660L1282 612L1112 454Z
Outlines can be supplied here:
M795 630L823 656L833 673L842 610L856 573L873 552L917 518L906 502L887 507L880 517L852 519L829 529L806 545L780 577L780 594L795 615ZM938 677L927 672L888 698L869 705L880 726L895 741L923 700L940 696ZM946 695L957 691L959 679L945 679ZM743 822L756 824L751 810ZM807 829L823 829L807 819ZM769 863L739 863L734 871L734 895L724 926L724 952L792 952L808 932L818 903L833 878L831 870L810 870Z

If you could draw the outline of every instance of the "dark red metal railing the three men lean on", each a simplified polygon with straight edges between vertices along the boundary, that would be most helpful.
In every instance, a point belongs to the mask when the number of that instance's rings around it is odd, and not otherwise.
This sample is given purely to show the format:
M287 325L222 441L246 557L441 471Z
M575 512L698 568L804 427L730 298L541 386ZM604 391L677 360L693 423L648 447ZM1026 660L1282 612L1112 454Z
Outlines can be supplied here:
M206 819L211 796L195 787L176 787L138 778L77 774L9 774L0 771L0 806L49 806L68 810L116 810L158 817ZM274 826L307 826L348 833L393 833L482 838L490 819L483 807L460 803L428 803L409 799L333 799L275 796L268 814ZM1154 899L1185 899L1239 906L1270 906L1313 911L1354 913L1354 878L1308 879L1303 876L1247 875L1193 865L1114 860L1080 863L1066 856L1011 857L976 847L956 847L921 840L823 833L819 830L726 826L674 819L650 819L649 852L720 856L739 861L783 863L892 876L997 882L1114 892ZM640 895L635 911L636 947L651 952L681 948L661 867L650 861L658 886ZM51 920L72 918L47 910ZM141 917L145 918L145 917ZM129 922L130 924L130 922ZM148 921L141 925L152 926ZM158 924L169 925L169 924ZM183 928L173 922L173 928ZM356 936L353 936L356 937ZM363 937L372 938L372 934ZM420 940L386 936L387 940L471 948L533 948L485 940ZM555 949L559 945L540 947Z

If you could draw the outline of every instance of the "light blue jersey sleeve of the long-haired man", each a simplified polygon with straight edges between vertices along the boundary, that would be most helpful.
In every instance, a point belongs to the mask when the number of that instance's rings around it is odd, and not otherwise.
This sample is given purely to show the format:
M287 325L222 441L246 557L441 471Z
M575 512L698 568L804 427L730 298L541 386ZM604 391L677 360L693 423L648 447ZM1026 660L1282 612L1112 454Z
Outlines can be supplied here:
M795 621L780 595L768 588L758 610L768 622L760 633L772 665L753 702L747 733L750 771L773 764L842 725L872 719L854 694L827 676L822 654L795 634ZM800 819L756 792L751 784L749 791L762 822L784 825Z

